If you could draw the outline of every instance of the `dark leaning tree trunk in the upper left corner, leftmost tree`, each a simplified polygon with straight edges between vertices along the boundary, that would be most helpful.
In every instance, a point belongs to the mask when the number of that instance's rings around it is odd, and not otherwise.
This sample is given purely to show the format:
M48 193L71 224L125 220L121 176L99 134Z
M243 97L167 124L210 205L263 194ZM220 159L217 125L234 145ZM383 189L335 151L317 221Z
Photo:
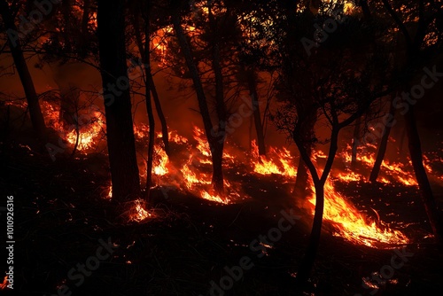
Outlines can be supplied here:
M7 32L18 34L14 19L12 18L11 10L5 0L0 0L0 14L4 20L4 27ZM29 69L27 68L26 59L23 56L21 44L19 39L12 40L12 36L8 38L8 44L12 52L15 67L19 73L20 82L25 90L27 97L27 107L29 109L29 116L31 118L32 126L39 136L44 136L46 133L46 125L43 119L43 113L38 103L38 96L35 91L34 82L32 80Z

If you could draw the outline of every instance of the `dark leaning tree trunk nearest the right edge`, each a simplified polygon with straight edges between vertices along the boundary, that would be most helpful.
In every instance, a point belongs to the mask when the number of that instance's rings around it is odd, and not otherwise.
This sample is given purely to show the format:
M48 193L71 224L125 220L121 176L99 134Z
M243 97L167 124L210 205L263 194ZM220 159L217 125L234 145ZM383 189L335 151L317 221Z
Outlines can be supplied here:
M416 173L416 181L420 189L420 193L424 202L424 209L428 215L429 222L434 236L441 241L441 225L439 222L439 212L432 194L431 184L423 165L423 152L420 136L416 127L416 116L414 114L414 106L409 105L409 111L405 114L406 130L408 134L408 148L411 156L412 166Z

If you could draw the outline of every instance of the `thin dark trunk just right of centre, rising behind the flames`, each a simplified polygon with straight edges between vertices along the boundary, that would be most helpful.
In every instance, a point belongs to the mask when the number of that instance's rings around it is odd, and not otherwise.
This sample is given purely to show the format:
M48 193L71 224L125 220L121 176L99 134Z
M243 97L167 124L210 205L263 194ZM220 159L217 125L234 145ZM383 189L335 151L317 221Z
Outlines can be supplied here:
M265 136L263 135L263 124L259 107L259 93L257 92L257 77L253 70L246 70L249 95L253 104L253 122L257 134L257 144L259 146L259 155L266 155Z

